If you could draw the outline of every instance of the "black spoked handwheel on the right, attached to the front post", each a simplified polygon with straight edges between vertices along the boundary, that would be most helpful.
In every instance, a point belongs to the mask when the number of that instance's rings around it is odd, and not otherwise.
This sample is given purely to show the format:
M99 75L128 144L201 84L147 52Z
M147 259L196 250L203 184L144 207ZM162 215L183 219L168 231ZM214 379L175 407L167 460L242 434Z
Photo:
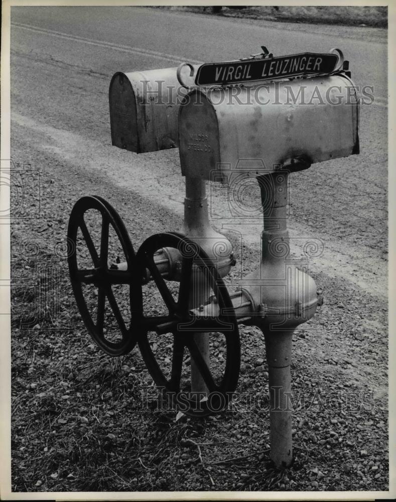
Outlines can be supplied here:
M163 247L179 252L180 284L166 280L155 264L154 255ZM213 263L198 244L170 232L152 235L141 245L137 268L143 273L148 269L153 279L143 290L146 305L139 347L154 382L187 415L221 411L238 382L240 346L232 303ZM192 307L199 307L194 305L194 296L199 297L196 289L203 283L218 302L217 317L203 318L191 312ZM134 308L140 307L137 303ZM196 333L208 333L209 363L194 339ZM208 389L203 399L191 392L191 359Z

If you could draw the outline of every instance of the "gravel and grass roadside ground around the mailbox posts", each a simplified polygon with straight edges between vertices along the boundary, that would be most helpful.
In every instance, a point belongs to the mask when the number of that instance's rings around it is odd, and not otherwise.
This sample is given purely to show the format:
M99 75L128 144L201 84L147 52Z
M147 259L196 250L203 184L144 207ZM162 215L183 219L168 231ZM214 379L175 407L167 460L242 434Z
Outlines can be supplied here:
M339 277L313 274L325 303L294 336L295 462L274 471L258 329L241 328L242 373L233 407L208 419L176 421L175 412L161 409L138 349L117 359L101 354L76 310L65 234L79 196L109 200L136 247L156 231L179 228L180 215L154 202L148 212L144 196L82 167L87 159L77 166L40 147L32 151L23 129L17 122L13 127L24 207L36 215L16 218L11 237L13 490L387 489L386 302ZM239 248L231 232L228 237L253 267L257 249ZM35 297L44 281L38 263L57 273L58 281L46 286L46 298L59 298L54 317ZM238 267L229 282L237 275Z

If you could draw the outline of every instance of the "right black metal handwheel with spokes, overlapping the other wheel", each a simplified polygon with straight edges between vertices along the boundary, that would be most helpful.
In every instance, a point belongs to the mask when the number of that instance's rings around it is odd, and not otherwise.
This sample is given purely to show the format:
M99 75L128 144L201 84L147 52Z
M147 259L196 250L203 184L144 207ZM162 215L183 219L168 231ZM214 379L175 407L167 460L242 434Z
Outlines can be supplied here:
M154 262L155 252L163 247L175 248L180 253L181 273L177 300L169 289L169 283L164 280ZM137 268L140 271L147 269L150 271L155 286L168 310L168 314L162 316L143 316L140 323L142 329L138 343L154 382L171 397L174 406L187 415L206 416L211 412L220 411L228 403L238 382L240 345L239 330L232 302L213 262L197 243L182 234L169 232L155 234L145 240L137 253ZM220 311L217 317L203 318L191 313L189 295L194 274L204 275L207 284L210 285L217 298ZM138 299L133 301L138 301ZM137 303L134 309L141 311L142 305ZM170 367L167 368L167 371L164 371L157 361L148 338L148 332L155 332L159 343L162 335L173 335L172 356L169 358ZM224 343L225 340L225 364L222 366L220 379L217 378L215 381L211 368L208 367L194 340L194 333L210 333L210 336L221 334L221 341ZM180 406L181 373L184 358L185 355L188 356L188 352L190 360L194 360L206 384L208 394L207 400L198 405L196 399L190 399L183 394L183 406Z

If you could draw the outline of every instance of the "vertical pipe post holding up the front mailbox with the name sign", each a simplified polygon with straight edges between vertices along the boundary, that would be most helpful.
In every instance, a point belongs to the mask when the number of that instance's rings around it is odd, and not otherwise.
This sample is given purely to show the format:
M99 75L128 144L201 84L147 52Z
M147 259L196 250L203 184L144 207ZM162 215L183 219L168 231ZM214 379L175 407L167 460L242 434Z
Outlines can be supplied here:
M264 219L261 278L269 284L279 282L270 294L266 292L263 301L268 300L275 309L279 307L278 312L287 312L291 299L299 295L297 291L291 291L296 285L285 263L289 255L288 174L283 171L258 178ZM282 252L282 248L286 251ZM299 322L292 315L277 315L275 310L274 315L267 316L260 326L266 341L269 373L271 459L278 468L288 467L293 461L290 365L293 331L297 324Z

